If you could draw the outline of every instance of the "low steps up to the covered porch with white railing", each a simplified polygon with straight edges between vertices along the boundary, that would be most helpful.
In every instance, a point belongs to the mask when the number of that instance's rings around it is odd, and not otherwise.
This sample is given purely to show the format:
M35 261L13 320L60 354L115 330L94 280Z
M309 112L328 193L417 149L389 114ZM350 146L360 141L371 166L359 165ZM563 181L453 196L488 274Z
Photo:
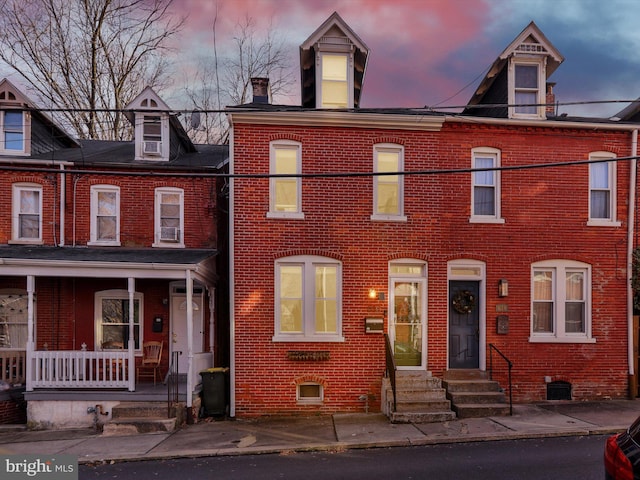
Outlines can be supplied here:
M111 420L103 425L105 436L172 432L176 418L167 418L166 402L121 402L111 409Z

